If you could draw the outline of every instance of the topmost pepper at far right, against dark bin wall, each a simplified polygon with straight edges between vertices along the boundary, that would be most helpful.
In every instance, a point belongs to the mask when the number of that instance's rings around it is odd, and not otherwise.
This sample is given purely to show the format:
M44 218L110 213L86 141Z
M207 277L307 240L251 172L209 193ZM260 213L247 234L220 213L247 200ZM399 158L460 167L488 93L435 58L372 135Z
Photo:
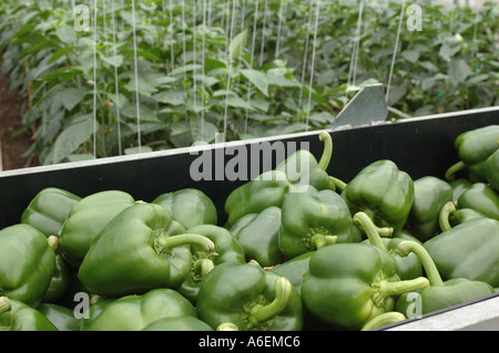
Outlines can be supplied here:
M452 180L459 172L466 170L470 181L487 183L483 165L499 148L498 138L499 125L475 128L456 137L454 146L460 160L447 169L446 179Z

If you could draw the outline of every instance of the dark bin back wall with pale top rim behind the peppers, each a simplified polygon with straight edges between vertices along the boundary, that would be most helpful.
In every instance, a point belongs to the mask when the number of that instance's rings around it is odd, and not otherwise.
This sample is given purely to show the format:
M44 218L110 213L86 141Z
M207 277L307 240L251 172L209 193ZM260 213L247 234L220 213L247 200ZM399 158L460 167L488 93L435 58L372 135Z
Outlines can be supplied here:
M334 150L328 172L348 181L369 163L391 159L414 179L426 175L444 178L445 170L458 160L454 139L465 131L491 124L499 124L499 107L334 131L330 132ZM152 201L163 193L194 187L213 199L222 225L226 220L225 198L247 180L228 180L226 177L217 180L216 174L225 165L224 160L234 158L233 149L246 153L249 168L251 162L255 160L252 146L262 142L284 142L284 145L295 143L298 148L302 143L309 143L309 149L317 159L323 149L318 132L204 146L201 148L211 153L213 170L212 178L205 180L194 180L191 177L192 164L202 156L191 154L192 148L2 172L0 229L19 222L29 201L41 189L50 186L67 189L81 197L105 189L120 189L144 201ZM225 158L222 164L221 156ZM278 157L274 158L273 167L278 162Z

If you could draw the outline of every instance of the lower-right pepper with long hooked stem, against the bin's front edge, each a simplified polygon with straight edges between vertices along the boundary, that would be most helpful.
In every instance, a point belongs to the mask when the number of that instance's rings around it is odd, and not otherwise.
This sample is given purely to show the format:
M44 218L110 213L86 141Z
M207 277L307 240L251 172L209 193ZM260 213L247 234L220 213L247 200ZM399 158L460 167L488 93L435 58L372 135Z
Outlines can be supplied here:
M422 289L418 293L418 295L420 295L422 314L461 304L493 293L493 288L481 281L472 281L466 278L454 278L442 281L434 260L420 243L403 241L398 245L397 251L403 257L409 253L416 253L425 268L426 277L429 280L429 287ZM414 302L414 299L411 298L408 300L407 295L408 294L405 293L398 299L397 311L409 315L407 309L410 304L407 304Z

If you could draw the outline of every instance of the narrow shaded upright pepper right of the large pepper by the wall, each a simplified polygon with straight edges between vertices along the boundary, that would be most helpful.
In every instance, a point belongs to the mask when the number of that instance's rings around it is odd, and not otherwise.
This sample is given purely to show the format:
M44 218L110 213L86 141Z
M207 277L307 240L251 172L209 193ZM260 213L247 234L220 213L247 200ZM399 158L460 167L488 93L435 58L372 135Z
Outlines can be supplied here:
M436 236L440 209L452 196L450 184L440 178L426 176L414 180L414 204L406 224L410 233L420 241Z

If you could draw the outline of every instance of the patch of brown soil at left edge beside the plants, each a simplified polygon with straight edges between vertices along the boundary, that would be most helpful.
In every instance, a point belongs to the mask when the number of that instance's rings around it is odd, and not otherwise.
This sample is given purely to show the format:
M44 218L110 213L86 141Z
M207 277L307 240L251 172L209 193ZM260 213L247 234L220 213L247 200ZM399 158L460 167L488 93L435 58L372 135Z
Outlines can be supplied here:
M17 92L9 92L8 77L0 76L0 170L11 170L38 165L35 156L22 157L31 146L32 139L28 133L17 136L23 128L22 111L24 102Z

